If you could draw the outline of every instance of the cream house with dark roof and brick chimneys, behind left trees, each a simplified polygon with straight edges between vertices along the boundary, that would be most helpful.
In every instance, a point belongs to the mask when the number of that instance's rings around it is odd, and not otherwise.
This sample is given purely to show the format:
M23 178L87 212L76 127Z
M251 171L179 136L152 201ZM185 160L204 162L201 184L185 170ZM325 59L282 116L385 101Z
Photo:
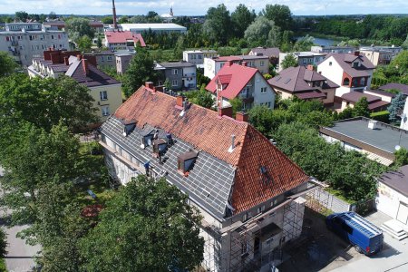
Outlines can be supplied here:
M121 105L121 83L96 68L95 59L85 59L77 52L44 51L43 58L33 60L28 67L30 77L57 78L64 74L87 86L101 121Z

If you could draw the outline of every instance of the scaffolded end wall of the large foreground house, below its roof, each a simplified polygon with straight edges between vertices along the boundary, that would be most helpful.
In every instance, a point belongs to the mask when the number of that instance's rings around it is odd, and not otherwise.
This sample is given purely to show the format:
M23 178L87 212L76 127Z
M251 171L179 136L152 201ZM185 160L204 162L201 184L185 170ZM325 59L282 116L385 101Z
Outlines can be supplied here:
M227 229L201 226L207 233L203 262L206 269L202 271L259 271L278 266L285 257L283 246L309 228L304 222L305 208L327 212L328 198L322 187L325 185L318 181L311 182L307 189L288 196L276 207ZM266 224L273 217L276 219Z

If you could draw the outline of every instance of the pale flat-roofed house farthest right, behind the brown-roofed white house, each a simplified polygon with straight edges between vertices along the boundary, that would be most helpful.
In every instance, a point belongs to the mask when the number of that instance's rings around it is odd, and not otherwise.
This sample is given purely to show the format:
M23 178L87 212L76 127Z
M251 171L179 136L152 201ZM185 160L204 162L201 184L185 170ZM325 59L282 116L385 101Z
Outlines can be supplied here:
M401 51L403 51L401 46L360 47L360 52L364 53L374 66L391 63L393 58Z

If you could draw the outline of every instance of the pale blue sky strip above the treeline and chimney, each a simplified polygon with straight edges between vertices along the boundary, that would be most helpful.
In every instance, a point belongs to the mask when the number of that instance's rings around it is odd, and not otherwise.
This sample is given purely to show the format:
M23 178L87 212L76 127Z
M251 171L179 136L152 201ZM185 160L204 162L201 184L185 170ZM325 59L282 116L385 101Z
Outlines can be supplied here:
M267 4L288 5L293 15L371 15L408 14L407 0L281 0L241 1L258 13ZM115 0L117 15L146 15L155 11L159 15L169 14L173 6L174 15L205 15L211 6L223 3L232 12L239 4L237 0ZM29 14L55 12L57 15L110 15L112 0L0 0L0 14Z

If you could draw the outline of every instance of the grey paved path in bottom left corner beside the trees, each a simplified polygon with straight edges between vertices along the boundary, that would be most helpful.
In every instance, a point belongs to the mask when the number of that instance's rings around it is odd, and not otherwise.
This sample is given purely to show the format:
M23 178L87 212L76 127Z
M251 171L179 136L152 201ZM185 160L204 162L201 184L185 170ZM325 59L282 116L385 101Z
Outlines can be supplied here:
M0 166L0 177L3 176L4 172ZM0 189L0 194L2 190ZM0 219L3 218L8 213L7 210L0 209ZM24 240L21 238L16 238L17 232L27 228L27 226L15 226L13 228L5 228L3 222L0 220L0 228L4 228L7 233L7 243L8 243L8 254L5 257L5 264L9 272L25 272L32 271L34 267L33 256L40 249L39 246L29 246L26 245Z

